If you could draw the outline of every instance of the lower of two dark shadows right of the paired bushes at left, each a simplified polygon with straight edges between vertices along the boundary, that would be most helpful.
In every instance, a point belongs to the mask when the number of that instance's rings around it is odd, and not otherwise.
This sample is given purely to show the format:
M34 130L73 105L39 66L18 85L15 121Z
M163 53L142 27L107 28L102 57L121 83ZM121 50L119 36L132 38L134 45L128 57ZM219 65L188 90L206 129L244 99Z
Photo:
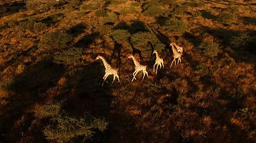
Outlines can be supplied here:
M76 42L76 44L74 44L74 47L88 48L89 45L91 45L94 40L99 37L101 37L99 32L84 35L78 42Z

